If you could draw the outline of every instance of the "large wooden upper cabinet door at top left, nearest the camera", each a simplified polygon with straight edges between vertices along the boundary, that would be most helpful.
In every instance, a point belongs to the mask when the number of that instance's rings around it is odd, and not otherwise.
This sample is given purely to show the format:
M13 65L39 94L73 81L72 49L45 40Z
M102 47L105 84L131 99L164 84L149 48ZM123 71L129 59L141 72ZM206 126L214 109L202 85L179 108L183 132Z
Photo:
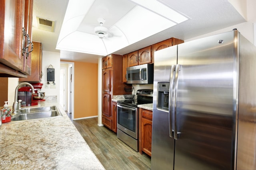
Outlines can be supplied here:
M0 62L24 70L22 56L22 15L24 0L2 0L0 5Z

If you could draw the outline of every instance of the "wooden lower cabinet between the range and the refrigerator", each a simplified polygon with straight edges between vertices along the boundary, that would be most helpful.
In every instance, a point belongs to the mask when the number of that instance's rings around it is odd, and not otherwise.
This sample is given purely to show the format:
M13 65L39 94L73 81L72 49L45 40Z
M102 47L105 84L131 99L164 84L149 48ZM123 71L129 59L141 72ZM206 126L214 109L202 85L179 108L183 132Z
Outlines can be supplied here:
M149 156L151 156L152 146L152 116L151 110L139 109L139 152Z

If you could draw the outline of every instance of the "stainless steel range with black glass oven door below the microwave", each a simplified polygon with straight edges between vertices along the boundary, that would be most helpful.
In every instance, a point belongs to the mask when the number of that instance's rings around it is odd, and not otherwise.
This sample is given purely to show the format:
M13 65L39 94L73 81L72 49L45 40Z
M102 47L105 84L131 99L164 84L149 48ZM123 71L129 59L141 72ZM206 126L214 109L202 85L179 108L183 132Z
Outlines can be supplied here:
M138 105L153 103L153 90L137 90L136 95L117 102L117 137L138 152Z

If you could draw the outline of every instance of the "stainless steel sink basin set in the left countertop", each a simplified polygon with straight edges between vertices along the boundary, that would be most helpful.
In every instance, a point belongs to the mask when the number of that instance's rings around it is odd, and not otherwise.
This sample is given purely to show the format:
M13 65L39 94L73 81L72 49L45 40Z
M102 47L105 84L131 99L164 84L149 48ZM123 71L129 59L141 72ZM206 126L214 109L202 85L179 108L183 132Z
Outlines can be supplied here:
M20 111L21 114L18 117L12 118L11 122L29 121L62 116L62 114L56 106L26 107L20 109Z

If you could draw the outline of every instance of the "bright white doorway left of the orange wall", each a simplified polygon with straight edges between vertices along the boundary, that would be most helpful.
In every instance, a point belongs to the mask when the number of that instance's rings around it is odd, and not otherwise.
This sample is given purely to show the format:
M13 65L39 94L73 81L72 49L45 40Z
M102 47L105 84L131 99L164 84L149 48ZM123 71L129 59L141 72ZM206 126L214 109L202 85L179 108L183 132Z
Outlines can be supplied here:
M74 63L60 62L60 81L64 84L60 87L60 104L63 101L64 110L72 114L74 120Z

